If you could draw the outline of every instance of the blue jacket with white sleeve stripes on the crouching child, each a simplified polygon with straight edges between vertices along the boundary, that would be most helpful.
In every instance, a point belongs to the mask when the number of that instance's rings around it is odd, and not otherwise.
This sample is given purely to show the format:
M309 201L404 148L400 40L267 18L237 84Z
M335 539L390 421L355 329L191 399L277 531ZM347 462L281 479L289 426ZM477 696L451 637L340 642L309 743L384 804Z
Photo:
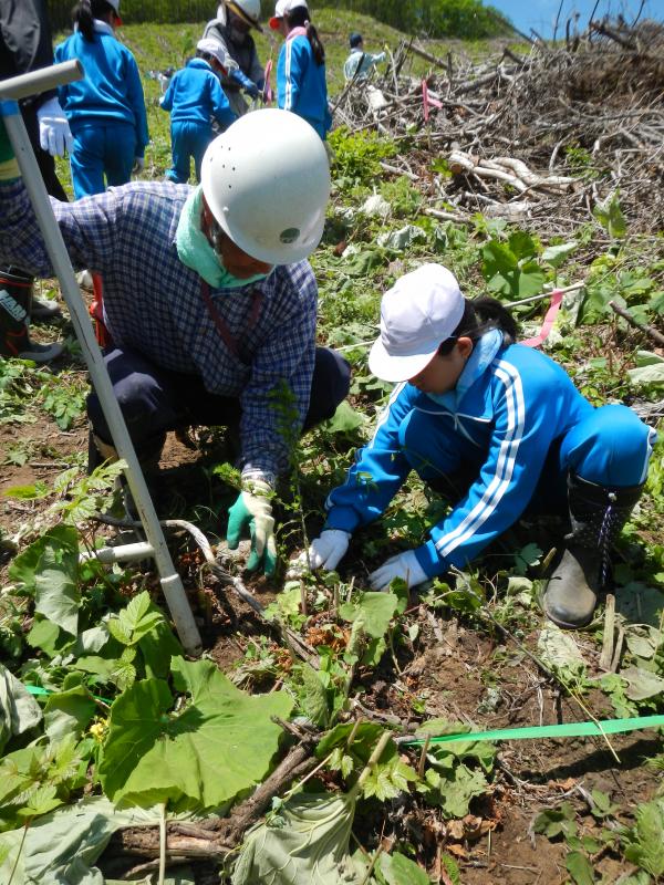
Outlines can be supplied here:
M438 415L460 434L469 459L480 465L467 494L433 527L415 551L426 574L464 569L521 516L536 490L551 444L592 413L567 372L522 344L502 346L487 333L454 391L425 394L412 384L394 388L374 437L356 454L343 486L328 498L326 529L347 532L375 520L411 471L398 428L413 409Z

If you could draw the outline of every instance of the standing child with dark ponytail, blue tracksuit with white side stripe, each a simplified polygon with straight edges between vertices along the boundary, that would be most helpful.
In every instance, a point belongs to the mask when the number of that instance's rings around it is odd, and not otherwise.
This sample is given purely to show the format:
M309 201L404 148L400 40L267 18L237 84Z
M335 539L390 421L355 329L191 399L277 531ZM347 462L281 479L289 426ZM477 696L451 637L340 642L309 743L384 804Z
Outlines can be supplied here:
M332 126L325 51L304 0L279 0L270 28L284 37L277 63L277 103L303 117L325 140Z

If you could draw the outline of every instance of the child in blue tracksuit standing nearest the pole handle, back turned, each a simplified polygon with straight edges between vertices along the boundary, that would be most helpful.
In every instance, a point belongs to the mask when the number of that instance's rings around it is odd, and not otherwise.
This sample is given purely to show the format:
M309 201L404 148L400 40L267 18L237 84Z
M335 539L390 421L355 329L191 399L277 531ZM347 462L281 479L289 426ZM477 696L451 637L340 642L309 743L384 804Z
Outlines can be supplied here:
M85 76L58 94L74 138L70 154L76 199L124 185L144 166L149 137L136 60L118 40L120 0L83 0L74 33L55 48L55 62L79 59Z

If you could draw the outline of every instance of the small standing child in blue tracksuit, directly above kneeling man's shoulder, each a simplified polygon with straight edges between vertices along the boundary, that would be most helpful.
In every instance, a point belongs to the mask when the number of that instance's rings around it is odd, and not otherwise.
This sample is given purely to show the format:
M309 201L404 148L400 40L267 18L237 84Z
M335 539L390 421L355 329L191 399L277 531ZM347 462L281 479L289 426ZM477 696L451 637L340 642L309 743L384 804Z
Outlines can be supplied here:
M221 131L237 119L221 84L219 73L228 74L237 64L214 40L200 40L196 58L173 76L162 98L164 111L170 111L170 146L173 167L166 173L169 181L186 185L194 157L196 180L200 181L200 164L214 138L211 118Z

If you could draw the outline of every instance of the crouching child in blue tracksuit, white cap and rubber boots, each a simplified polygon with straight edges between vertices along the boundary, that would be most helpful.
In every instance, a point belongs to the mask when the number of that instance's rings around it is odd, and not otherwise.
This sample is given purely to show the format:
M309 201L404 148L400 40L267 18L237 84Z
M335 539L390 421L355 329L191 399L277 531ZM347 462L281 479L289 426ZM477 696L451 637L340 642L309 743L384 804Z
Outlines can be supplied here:
M484 317L486 322L480 322ZM334 569L351 533L377 519L411 470L452 499L415 550L370 575L415 586L465 569L527 507L569 507L571 533L544 595L557 624L587 624L606 583L611 542L645 482L654 430L623 405L594 408L548 356L513 343L517 325L494 299L466 301L453 274L425 264L383 298L371 371L401 382L372 440L326 502L309 555Z

